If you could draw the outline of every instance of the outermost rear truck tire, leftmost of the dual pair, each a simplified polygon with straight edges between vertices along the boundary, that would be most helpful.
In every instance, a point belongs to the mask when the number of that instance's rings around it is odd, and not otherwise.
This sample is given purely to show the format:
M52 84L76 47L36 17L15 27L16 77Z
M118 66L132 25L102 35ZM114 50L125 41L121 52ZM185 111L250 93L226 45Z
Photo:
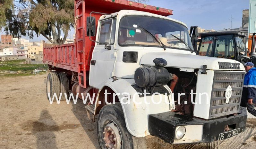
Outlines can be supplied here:
M50 93L50 97L53 98L54 93L56 93L57 98L59 98L60 95L60 80L57 73L49 73L47 76L47 82L46 82L46 94L47 98L50 101L48 97L48 93ZM54 99L56 101L56 99Z

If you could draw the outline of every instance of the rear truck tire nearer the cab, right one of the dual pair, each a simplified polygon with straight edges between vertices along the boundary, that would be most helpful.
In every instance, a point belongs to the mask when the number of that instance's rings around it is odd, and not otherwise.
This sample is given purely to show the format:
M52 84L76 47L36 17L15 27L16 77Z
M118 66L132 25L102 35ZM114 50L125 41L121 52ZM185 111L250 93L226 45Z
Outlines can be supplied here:
M66 100L64 93L69 94L69 81L66 73L58 73L60 80L60 93L62 93L61 100Z

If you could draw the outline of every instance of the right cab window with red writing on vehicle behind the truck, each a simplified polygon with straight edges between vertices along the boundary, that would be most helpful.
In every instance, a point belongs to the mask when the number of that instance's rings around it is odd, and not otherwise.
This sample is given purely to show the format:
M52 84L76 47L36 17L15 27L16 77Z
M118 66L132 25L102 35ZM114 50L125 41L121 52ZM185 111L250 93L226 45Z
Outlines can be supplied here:
M232 35L217 36L214 57L235 59L234 40Z

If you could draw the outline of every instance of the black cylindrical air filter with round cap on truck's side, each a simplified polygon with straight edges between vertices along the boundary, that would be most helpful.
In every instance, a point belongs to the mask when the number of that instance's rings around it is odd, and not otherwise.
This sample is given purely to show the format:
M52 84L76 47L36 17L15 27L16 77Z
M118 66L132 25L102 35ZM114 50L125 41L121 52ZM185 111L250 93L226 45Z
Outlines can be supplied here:
M172 74L164 68L167 65L165 59L156 58L153 62L155 63L154 68L136 69L134 80L139 87L149 89L149 87L154 88L155 86L166 85L173 78Z

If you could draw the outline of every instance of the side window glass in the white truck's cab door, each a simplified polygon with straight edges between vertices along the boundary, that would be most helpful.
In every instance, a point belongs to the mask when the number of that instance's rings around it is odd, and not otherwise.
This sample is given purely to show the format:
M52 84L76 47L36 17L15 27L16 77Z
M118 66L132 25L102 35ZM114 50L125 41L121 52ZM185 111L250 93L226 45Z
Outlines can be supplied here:
M108 19L100 22L98 41L103 44L114 44L116 19Z

